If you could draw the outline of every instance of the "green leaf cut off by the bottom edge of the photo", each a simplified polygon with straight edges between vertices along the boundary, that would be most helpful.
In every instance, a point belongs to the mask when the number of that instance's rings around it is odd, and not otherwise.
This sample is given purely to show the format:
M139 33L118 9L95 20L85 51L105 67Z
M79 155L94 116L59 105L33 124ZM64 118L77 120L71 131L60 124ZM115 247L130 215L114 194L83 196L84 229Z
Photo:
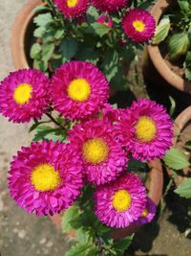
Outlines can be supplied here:
M76 244L66 252L65 256L97 256L98 248L95 244Z

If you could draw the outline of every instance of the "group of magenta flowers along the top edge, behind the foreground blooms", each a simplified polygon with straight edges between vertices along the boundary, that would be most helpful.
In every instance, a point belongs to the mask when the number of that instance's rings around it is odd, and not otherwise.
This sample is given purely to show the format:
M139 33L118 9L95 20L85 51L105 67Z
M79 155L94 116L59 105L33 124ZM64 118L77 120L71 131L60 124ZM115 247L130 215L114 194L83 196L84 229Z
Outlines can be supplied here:
M137 43L147 42L155 34L156 21L154 17L139 8L129 9L129 0L54 0L54 3L65 18L84 17L88 6L92 4L98 12L101 12L97 22L108 27L113 27L113 13L123 10L120 15L124 33Z

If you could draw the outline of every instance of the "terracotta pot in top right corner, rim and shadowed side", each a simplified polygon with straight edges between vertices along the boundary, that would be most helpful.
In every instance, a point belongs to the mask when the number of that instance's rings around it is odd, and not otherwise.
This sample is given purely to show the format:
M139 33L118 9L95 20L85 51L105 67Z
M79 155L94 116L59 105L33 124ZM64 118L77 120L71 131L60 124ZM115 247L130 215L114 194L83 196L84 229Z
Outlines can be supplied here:
M159 23L162 13L172 2L172 0L159 0L153 7L152 14L154 15L157 23ZM168 84L171 84L180 91L191 93L191 82L182 79L170 69L164 58L162 58L158 45L148 45L147 55L148 56L144 55L143 57L143 72L148 80L153 80L154 84L155 82L159 83L166 81ZM149 60L152 61L153 65L149 63Z

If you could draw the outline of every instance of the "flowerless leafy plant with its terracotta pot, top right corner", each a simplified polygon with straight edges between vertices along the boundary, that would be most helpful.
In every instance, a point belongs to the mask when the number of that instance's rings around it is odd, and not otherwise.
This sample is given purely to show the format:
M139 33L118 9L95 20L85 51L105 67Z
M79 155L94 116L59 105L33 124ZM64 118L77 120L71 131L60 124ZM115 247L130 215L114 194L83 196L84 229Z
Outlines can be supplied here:
M156 35L147 47L143 69L146 78L155 83L168 83L191 92L190 77L190 2L159 0L152 14L158 22ZM151 71L152 70L152 71ZM150 76L155 72L155 76Z

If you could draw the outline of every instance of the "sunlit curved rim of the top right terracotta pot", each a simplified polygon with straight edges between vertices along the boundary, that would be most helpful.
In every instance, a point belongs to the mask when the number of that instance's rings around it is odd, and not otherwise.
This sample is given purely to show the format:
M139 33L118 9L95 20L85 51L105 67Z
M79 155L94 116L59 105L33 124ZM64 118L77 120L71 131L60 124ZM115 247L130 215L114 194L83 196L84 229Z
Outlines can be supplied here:
M164 12L164 10L169 7L171 2L172 0L159 0L153 7L151 13L155 17L157 23L159 22L160 16ZM158 45L148 45L147 51L155 68L158 70L160 76L164 78L165 81L168 81L168 83L172 84L180 91L191 93L191 82L182 79L179 75L177 75L168 67L164 58L162 58L160 54Z

